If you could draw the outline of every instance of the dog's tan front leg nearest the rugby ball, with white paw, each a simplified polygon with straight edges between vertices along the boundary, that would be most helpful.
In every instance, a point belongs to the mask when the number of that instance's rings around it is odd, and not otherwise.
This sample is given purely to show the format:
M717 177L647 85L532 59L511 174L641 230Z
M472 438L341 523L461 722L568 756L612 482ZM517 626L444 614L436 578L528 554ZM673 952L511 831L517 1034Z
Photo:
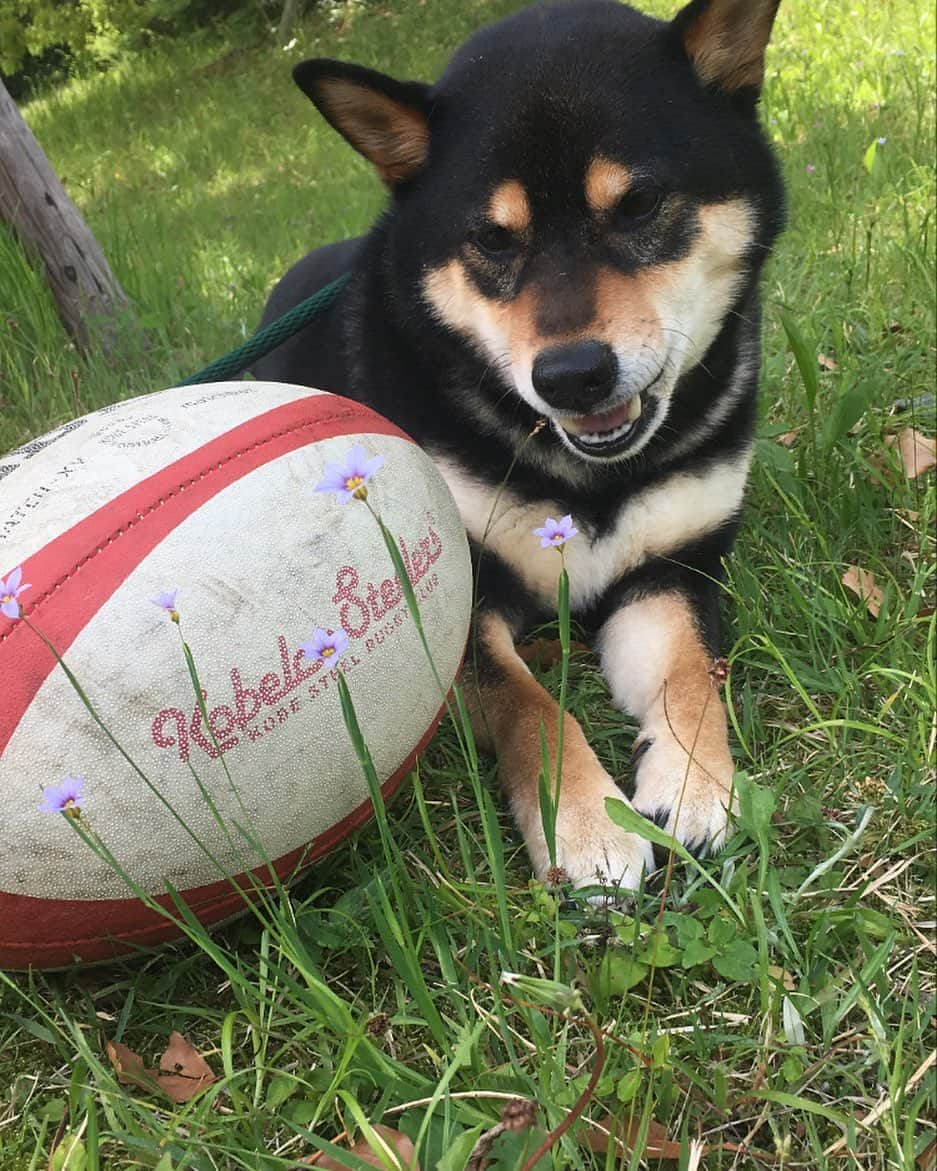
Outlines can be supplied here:
M550 856L540 808L542 740L550 761L550 793L556 772L560 710L518 656L504 618L479 616L464 694L479 746L498 758L501 786L524 834L534 871L545 877ZM555 864L577 886L601 882L634 890L652 869L650 845L615 826L606 797L622 792L586 742L582 728L563 720L562 772L556 809Z

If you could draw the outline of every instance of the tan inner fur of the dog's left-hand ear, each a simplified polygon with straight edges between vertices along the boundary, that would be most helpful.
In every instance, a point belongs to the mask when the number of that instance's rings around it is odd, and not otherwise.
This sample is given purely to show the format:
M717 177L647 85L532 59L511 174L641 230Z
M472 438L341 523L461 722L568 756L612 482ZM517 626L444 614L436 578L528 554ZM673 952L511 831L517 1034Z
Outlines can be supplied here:
M320 82L320 91L329 117L384 183L399 183L423 164L430 131L416 110L342 78Z

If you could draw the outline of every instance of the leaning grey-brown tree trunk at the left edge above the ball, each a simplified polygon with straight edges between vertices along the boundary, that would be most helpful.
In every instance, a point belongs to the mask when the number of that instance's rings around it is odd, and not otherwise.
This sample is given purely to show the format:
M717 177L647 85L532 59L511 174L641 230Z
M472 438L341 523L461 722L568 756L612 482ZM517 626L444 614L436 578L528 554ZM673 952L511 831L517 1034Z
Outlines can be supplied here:
M0 220L39 253L76 344L114 349L132 319L126 295L1 81Z

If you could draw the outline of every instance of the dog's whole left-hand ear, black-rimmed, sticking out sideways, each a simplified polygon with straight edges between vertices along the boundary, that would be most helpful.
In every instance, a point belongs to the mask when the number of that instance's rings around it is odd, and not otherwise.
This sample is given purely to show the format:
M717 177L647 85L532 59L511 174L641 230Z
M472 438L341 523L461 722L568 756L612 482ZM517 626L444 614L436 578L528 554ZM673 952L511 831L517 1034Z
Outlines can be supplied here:
M301 61L293 80L389 186L423 165L430 146L429 85L326 57Z

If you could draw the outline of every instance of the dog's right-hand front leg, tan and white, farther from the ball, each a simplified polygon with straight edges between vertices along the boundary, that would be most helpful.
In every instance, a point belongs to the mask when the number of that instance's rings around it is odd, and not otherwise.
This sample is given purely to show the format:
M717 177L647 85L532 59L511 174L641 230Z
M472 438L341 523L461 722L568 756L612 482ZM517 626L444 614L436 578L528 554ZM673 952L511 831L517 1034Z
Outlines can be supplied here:
M730 833L733 766L713 657L689 597L625 603L599 649L613 698L641 721L635 807L688 849L718 849Z

